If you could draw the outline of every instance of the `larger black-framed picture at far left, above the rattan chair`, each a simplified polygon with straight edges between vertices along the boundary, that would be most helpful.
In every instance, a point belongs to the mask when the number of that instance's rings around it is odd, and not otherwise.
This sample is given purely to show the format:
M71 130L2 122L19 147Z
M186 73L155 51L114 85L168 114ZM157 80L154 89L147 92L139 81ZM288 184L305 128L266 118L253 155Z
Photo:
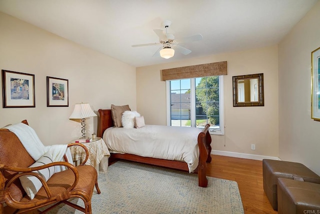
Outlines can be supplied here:
M34 108L34 74L2 70L3 108Z

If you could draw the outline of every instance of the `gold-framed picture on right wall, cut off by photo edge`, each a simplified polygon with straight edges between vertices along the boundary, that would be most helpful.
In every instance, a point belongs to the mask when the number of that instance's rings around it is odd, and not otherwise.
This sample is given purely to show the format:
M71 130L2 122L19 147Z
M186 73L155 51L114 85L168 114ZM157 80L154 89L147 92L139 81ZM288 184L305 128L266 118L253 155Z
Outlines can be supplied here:
M311 118L320 121L320 48L311 52Z

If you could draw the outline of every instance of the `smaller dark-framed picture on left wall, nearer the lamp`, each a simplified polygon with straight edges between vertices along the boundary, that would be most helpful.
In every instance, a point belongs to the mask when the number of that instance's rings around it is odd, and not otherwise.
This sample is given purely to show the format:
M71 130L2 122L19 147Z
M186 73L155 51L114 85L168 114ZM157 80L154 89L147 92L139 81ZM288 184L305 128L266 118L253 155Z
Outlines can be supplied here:
M68 80L46 77L46 106L68 107Z

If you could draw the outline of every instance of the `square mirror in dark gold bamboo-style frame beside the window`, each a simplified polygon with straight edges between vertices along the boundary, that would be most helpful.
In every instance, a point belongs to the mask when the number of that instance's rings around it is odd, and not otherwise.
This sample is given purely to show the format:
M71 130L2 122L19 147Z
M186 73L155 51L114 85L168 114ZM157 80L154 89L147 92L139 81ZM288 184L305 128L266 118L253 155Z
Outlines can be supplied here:
M263 74L232 77L233 107L264 106Z

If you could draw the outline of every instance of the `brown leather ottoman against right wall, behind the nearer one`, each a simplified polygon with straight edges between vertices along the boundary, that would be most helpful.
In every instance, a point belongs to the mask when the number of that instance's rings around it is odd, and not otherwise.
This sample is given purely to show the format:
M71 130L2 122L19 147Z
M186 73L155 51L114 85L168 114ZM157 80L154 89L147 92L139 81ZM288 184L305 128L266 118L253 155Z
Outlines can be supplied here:
M263 190L274 210L277 210L278 177L320 183L320 176L301 163L263 159L262 170Z

